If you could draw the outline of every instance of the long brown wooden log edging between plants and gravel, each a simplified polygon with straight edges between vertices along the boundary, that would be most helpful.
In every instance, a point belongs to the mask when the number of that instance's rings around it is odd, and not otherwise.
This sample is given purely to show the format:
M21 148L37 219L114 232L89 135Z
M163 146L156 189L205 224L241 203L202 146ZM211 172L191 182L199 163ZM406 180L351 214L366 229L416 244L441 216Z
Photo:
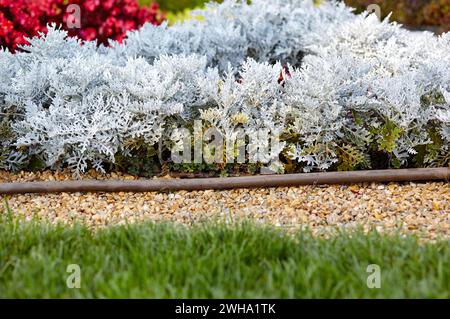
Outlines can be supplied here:
M389 169L355 172L326 172L286 175L258 175L226 178L74 180L0 183L0 194L75 192L161 192L225 190L235 188L291 187L364 182L449 181L450 168Z

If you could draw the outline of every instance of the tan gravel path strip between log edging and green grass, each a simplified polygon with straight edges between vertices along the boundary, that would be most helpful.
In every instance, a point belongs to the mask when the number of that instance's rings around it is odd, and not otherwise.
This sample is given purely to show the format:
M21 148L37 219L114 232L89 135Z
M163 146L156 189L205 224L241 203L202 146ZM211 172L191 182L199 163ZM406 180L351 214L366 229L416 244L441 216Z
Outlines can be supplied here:
M96 179L134 179L126 175L86 175ZM71 179L67 172L10 174L0 181ZM103 193L14 195L8 203L26 218L51 222L81 221L99 227L142 220L192 224L207 219L251 218L295 229L309 226L326 234L363 226L380 232L400 230L421 238L450 238L450 184L404 183L351 186L301 186L258 190L176 193Z

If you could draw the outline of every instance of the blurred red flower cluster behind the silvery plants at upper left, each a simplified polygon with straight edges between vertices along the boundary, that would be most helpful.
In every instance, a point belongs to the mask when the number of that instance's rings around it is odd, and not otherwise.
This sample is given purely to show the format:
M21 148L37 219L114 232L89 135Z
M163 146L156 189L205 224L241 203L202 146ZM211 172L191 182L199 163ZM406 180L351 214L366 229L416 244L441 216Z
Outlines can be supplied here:
M73 28L78 17L79 28ZM122 41L127 31L145 22L160 24L163 19L158 4L140 7L136 0L0 0L0 47L14 52L27 43L24 37L45 32L52 22L70 36L107 44L108 39Z

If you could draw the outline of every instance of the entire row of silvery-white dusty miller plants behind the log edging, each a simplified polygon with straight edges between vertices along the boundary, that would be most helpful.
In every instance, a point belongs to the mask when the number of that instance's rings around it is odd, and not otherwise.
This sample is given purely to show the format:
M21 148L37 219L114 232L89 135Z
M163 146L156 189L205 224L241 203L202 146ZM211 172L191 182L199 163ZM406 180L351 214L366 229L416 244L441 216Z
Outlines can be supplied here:
M423 165L448 163L449 34L334 1L227 0L197 14L110 48L51 27L24 52L1 51L0 165L38 156L104 171L134 142L170 145L198 119L225 137L277 132L276 171L280 154L305 171L370 166L374 152L407 165L423 149Z

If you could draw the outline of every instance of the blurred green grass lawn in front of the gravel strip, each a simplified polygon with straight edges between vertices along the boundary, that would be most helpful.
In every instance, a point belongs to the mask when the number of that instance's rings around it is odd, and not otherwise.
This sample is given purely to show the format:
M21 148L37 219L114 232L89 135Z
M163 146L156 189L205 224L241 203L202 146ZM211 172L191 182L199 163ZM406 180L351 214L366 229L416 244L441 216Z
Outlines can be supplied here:
M449 243L400 236L286 235L242 223L186 228L0 222L0 297L359 298L450 297ZM69 264L81 288L69 289ZM381 289L366 285L381 267Z

